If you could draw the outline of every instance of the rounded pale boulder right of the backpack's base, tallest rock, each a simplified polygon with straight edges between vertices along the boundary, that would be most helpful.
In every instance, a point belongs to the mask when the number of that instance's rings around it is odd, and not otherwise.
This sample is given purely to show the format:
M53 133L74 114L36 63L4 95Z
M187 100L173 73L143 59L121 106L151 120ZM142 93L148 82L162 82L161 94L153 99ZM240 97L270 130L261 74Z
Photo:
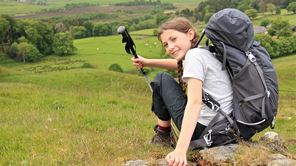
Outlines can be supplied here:
M265 141L269 144L275 144L276 146L279 146L281 149L284 149L285 151L289 151L285 140L281 136L279 136L279 134L273 131L266 132L264 135L260 137L259 140ZM280 152L280 151L277 151L277 152Z

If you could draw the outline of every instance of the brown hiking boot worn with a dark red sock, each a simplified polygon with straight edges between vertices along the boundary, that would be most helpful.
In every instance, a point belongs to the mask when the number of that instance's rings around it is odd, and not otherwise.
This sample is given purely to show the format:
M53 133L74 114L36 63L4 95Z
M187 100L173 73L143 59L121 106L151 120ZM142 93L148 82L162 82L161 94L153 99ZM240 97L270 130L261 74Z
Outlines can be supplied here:
M158 129L158 125L154 127L155 136L152 137L151 141L146 142L145 144L154 144L157 146L165 146L165 147L175 147L176 139L174 137L173 131L165 132Z

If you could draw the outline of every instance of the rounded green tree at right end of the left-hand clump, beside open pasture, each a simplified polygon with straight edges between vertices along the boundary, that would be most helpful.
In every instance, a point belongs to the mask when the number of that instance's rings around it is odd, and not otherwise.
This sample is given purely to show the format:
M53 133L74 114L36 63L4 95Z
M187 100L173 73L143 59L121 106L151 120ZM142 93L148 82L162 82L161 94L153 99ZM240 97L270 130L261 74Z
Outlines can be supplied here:
M56 33L53 38L53 49L59 55L64 55L67 52L69 53L74 52L77 50L73 44L73 38L70 33Z

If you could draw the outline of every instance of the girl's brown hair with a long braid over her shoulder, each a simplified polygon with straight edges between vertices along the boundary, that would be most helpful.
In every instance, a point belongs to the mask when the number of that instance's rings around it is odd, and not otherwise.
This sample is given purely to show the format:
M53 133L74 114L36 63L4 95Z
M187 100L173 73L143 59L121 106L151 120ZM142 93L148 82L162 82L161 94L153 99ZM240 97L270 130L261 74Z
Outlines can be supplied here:
M168 19L166 22L162 23L159 27L159 30L157 32L157 38L158 40L162 43L160 39L160 35L163 34L165 30L177 30L179 32L187 33L189 29L194 30L194 38L192 39L192 44L191 48L194 47L195 43L197 40L200 38L199 35L197 35L197 31L192 25L192 23L186 19L185 17L174 17L171 19ZM187 83L183 82L182 76L183 76L183 61L180 60L177 62L178 63L178 79L179 79L179 84L183 88L183 96L187 98L186 95L186 88L187 88Z

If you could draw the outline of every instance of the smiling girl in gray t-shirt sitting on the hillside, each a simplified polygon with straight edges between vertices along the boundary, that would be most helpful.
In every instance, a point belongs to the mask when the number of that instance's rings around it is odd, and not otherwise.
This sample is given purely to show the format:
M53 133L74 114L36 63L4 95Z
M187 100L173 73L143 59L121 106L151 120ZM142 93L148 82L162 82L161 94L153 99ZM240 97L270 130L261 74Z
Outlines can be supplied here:
M192 49L199 36L188 19L175 17L164 22L159 27L157 38L174 59L139 56L131 59L133 65L136 68L151 66L178 70L181 86L165 72L158 73L151 82L152 111L157 115L158 125L149 143L175 147L170 126L173 119L180 135L175 150L165 160L168 165L187 165L186 152L190 141L198 139L216 115L214 110L202 103L202 89L219 102L227 114L232 111L233 90L227 72L221 71L221 62L204 48ZM187 87L188 98L185 93ZM223 118L222 115L219 120Z

